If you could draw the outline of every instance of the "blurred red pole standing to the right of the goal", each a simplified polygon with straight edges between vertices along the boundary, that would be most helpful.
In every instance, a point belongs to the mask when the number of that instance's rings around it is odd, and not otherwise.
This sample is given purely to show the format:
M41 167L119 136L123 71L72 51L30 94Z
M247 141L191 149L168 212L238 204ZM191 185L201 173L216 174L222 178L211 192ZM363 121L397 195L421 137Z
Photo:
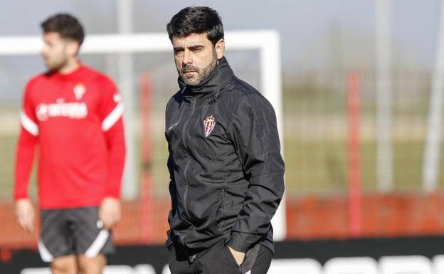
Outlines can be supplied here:
M349 73L347 77L349 112L349 232L361 233L361 167L359 164L359 77Z

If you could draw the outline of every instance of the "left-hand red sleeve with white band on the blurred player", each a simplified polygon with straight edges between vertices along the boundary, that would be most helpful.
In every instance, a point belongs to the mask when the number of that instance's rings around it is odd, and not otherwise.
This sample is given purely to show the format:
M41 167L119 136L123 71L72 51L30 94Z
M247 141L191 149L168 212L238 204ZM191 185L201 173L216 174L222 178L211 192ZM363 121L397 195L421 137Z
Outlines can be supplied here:
M32 82L32 81L31 81ZM20 136L16 150L14 200L28 198L28 184L38 141L38 121L31 99L31 82L26 85L20 112Z

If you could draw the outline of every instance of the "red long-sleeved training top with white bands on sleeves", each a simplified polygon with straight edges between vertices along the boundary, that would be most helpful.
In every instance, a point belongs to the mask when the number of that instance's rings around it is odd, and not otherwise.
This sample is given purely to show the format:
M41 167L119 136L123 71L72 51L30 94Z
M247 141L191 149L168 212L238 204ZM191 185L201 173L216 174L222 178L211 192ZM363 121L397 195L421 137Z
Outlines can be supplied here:
M123 106L107 76L84 65L29 80L20 113L14 199L28 197L38 144L41 209L99 206L120 196L125 162Z

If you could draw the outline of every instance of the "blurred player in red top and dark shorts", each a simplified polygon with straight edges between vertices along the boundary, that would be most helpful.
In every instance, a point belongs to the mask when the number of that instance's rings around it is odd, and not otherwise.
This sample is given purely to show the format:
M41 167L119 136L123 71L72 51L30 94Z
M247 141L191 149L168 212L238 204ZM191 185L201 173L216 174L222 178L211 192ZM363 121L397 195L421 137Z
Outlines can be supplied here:
M78 60L83 27L69 14L41 24L48 72L28 81L14 187L18 224L34 230L28 181L38 147L38 251L53 273L102 273L120 221L123 106L115 84Z

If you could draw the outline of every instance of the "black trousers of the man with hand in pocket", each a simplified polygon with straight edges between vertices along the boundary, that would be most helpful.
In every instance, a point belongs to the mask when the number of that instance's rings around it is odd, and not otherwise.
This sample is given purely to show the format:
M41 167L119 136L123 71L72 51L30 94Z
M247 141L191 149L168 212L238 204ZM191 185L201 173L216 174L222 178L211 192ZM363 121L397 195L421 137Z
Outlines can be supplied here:
M265 246L256 245L245 254L241 265L236 263L224 241L211 248L191 251L181 245L169 248L171 274L266 274L273 253Z

